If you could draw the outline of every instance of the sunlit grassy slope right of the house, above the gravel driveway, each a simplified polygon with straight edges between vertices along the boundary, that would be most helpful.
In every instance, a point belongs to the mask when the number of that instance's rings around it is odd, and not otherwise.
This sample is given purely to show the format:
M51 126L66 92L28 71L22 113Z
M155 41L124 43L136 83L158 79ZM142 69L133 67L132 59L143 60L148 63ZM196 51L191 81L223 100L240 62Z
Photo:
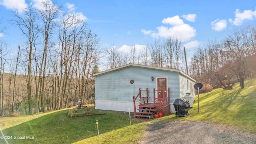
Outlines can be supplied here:
M256 79L245 81L245 88L239 83L232 90L214 89L212 92L199 94L189 112L189 116L177 118L170 115L166 120L196 120L237 126L241 130L256 133Z

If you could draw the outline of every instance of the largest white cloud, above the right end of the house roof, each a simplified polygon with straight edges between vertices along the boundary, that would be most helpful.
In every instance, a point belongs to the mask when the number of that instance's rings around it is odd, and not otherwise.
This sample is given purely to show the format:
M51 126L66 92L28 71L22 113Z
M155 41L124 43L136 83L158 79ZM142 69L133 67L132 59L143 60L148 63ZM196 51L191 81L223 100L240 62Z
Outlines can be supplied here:
M171 26L158 26L157 32L152 30L141 30L144 34L151 34L153 38L168 38L176 37L182 42L188 41L196 36L196 30L189 24L185 24L179 16L168 17L162 20L163 24L170 24Z

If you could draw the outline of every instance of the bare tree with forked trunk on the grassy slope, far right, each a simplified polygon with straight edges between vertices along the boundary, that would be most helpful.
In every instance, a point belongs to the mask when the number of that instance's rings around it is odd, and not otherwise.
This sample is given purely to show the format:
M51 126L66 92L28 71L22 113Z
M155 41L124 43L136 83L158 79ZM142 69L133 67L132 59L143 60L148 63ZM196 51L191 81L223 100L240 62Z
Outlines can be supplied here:
M254 54L250 39L246 30L240 30L227 38L222 48L225 58L223 64L236 74L241 89L244 88L244 79L250 73L250 65L253 64L248 61Z

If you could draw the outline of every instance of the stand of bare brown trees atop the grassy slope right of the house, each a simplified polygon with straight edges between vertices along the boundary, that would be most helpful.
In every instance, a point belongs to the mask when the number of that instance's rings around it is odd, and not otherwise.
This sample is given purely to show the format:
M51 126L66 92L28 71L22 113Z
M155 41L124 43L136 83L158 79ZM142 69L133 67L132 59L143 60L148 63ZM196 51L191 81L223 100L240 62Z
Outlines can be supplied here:
M222 42L209 42L191 58L191 73L216 87L231 89L239 82L243 89L244 79L253 73L254 36L253 30L244 28Z

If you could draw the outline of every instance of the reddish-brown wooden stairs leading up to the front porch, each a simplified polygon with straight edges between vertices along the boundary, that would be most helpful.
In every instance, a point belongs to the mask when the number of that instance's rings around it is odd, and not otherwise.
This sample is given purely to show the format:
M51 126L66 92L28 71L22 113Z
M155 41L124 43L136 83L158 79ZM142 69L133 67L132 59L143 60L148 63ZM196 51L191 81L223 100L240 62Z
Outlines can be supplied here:
M140 112L142 111L142 112ZM135 118L153 118L153 112L158 111L155 109L154 104L139 105L138 112L134 115Z

